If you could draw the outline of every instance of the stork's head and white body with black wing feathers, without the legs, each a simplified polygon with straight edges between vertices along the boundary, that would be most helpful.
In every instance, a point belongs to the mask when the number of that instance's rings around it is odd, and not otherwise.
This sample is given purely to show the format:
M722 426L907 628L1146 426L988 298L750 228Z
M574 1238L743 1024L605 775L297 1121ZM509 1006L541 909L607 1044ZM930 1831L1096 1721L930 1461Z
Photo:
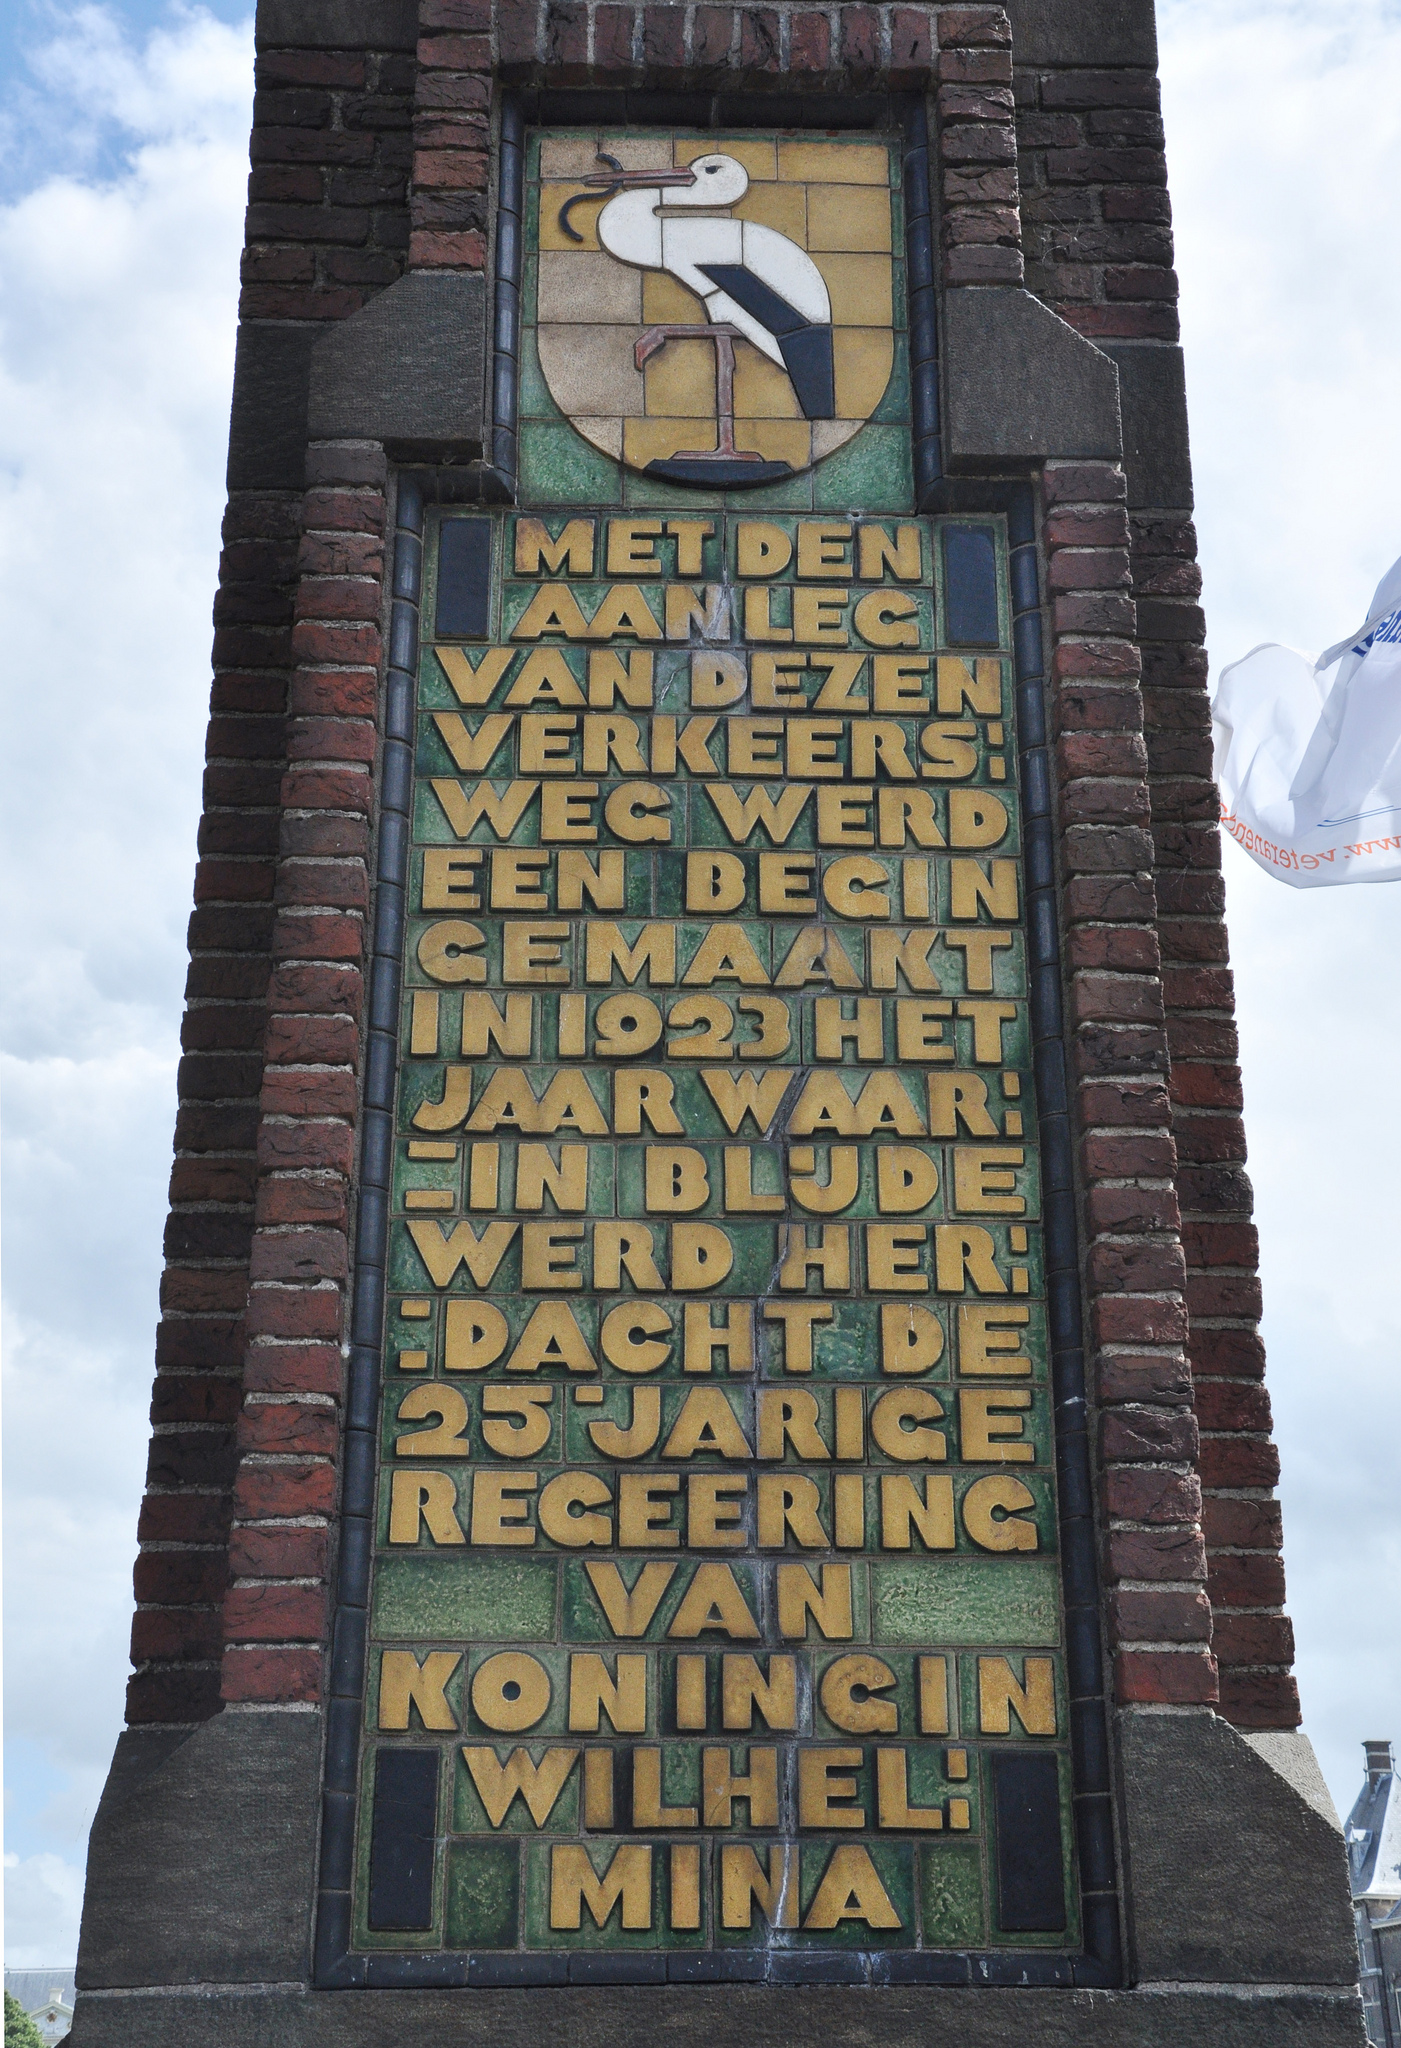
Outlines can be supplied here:
M776 227L711 211L750 190L744 164L715 152L688 170L614 168L584 182L614 195L598 215L598 240L610 256L670 272L703 301L711 326L737 328L789 373L803 418L832 420L832 299L821 270ZM574 205L565 201L559 219L580 240L565 219Z

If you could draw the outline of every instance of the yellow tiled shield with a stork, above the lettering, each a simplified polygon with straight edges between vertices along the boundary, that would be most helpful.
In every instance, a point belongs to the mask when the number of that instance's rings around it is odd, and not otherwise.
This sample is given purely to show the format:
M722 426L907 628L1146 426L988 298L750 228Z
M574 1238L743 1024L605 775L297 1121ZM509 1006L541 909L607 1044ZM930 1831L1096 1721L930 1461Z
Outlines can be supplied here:
M539 369L594 449L744 489L877 412L895 365L885 143L555 131L537 162Z

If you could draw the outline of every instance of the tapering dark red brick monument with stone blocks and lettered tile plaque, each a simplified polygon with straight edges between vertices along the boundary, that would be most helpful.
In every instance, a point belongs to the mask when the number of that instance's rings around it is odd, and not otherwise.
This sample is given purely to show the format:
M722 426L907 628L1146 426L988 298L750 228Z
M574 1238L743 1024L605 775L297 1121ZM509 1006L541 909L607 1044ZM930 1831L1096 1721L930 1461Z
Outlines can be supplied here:
M76 2048L1360 2044L1151 0L260 0Z

